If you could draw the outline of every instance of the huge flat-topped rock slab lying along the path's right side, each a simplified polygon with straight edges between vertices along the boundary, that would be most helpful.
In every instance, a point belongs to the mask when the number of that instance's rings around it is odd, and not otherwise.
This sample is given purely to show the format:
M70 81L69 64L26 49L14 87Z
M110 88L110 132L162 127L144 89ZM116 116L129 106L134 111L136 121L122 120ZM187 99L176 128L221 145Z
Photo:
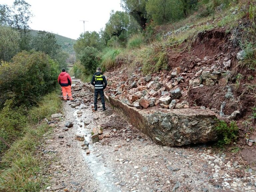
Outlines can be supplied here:
M106 101L157 144L182 146L217 140L214 129L216 116L212 111L201 109L144 111L129 107L112 97L107 97Z

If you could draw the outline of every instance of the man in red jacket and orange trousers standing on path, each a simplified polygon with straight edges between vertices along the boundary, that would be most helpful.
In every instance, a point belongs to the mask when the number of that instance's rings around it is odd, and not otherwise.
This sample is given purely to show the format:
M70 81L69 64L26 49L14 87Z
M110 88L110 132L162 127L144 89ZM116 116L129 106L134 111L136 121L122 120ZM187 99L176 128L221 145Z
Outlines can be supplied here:
M68 93L68 98L72 102L73 97L71 94L71 77L68 73L66 73L65 69L62 69L62 73L60 73L58 77L58 83L60 84L62 88L62 93L63 93L63 99L66 102L67 101L67 93Z

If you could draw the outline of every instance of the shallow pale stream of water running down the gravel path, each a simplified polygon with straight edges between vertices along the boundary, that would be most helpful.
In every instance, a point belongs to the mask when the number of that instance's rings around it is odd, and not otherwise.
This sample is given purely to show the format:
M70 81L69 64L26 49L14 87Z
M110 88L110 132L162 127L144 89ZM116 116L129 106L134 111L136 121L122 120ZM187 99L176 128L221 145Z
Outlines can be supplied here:
M77 134L85 136L85 140L91 143L91 132L95 126L93 123L93 115L90 107L83 109L84 104L81 104L74 112L75 120L78 122L80 127L77 129ZM86 106L88 107L88 106ZM78 111L83 111L79 117ZM85 126L84 121L92 121L89 125ZM90 154L87 155L86 151L82 151L83 157L87 166L89 167L94 178L99 182L99 188L101 192L121 192L120 188L114 183L113 173L110 169L104 166L103 158L99 154L94 153L94 147L92 144L89 145Z

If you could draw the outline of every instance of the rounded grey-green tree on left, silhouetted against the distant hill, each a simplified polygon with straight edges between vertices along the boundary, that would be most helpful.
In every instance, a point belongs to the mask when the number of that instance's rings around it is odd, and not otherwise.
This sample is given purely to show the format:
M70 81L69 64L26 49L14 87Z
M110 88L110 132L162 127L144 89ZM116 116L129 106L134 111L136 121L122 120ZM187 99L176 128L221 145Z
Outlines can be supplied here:
M32 40L32 49L54 57L60 49L55 35L46 31L39 31Z

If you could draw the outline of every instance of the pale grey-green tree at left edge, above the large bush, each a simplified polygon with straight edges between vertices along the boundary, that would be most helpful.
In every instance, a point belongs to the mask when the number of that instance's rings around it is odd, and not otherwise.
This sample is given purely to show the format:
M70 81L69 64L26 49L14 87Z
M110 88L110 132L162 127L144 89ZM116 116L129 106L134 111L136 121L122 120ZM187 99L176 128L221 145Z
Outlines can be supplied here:
M19 51L20 35L11 27L0 25L0 61L9 61Z

